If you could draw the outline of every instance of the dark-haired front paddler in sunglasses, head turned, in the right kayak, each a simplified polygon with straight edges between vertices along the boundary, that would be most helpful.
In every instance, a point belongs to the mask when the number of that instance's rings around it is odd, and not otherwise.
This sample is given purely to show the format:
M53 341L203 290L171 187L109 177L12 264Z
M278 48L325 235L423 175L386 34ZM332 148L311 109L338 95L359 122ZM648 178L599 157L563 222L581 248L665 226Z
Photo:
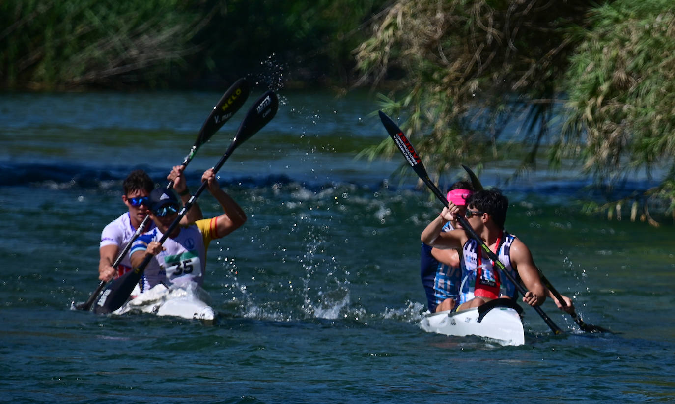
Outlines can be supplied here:
M522 282L528 290L522 301L530 306L540 306L546 297L551 297L556 306L563 309L562 304L553 296L541 281L539 271L532 254L516 236L504 230L508 199L499 190L480 190L466 199L464 215L468 224L481 237L489 249L495 253L499 261L515 279ZM443 227L460 214L460 206L448 201L441 214L422 232L422 241L439 249L459 249L464 264L465 279L474 274L468 287L460 291L460 305L457 310L466 310L485 304L498 297L516 299L518 291L508 278L499 273L499 268L485 255L483 249L463 229L442 231ZM464 282L466 285L466 282ZM504 291L502 291L502 288ZM566 311L574 310L569 297L562 296L566 303Z

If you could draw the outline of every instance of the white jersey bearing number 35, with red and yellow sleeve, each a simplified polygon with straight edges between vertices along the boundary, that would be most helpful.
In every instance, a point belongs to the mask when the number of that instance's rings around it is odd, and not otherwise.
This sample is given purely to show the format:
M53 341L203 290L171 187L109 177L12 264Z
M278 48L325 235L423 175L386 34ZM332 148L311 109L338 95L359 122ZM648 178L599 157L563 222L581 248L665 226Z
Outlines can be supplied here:
M178 236L168 237L162 244L165 250L151 260L156 265L144 271L140 281L141 293L166 280L171 283L196 282L201 286L204 283L209 243L212 239L219 238L217 219L202 219L192 225L180 226ZM148 231L134 241L131 254L145 251L148 243L159 241L162 237L163 233L157 228Z

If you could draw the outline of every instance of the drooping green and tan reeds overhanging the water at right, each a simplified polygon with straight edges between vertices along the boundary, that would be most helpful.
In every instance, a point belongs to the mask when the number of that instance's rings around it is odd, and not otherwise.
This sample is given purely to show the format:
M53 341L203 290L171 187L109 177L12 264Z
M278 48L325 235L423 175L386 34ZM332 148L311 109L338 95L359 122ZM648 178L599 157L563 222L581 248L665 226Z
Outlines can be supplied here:
M655 200L675 206L674 27L666 0L397 0L357 59L364 82L401 78L382 106L407 118L431 173L512 158L514 146L529 148L521 169L543 150L551 167L575 158L610 186L646 169L659 187L595 208L651 220ZM364 152L394 153L386 140Z

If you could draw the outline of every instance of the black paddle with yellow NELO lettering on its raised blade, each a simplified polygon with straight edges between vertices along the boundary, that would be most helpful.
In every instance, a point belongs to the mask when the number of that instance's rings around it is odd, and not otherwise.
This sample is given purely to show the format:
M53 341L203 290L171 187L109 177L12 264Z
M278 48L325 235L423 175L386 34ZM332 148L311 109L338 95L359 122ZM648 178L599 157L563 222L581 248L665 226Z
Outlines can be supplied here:
M227 91L225 91L225 94L223 94L215 107L213 107L209 117L207 117L206 121L204 121L202 128L197 134L197 139L195 140L194 145L192 145L190 152L183 160L182 166L184 168L190 164L192 157L194 157L194 154L197 152L197 150L199 150L202 144L205 144L207 141L209 141L211 136L213 136L215 132L218 132L218 129L220 129L220 127L223 126L223 124L227 122L227 120L229 120L229 118L231 118L232 115L234 115L234 113L236 113L242 107L242 105L244 105L246 98L248 98L248 82L246 82L246 80L243 78L240 78L234 84L232 84L232 86L230 86ZM167 185L166 188L167 190L173 188L173 181L169 181L169 185ZM148 221L150 221L150 217L146 216L145 219L143 219L143 221L140 223L140 226L138 226L138 229L136 229L134 235L132 235L132 238L128 241L128 243L126 243L126 246L124 246L121 252L117 254L115 262L113 262L111 265L113 268L119 265L121 260L131 249L131 245L134 240L136 240L138 236L145 231ZM75 308L77 310L89 310L91 305L94 304L94 301L99 296L99 293L101 293L101 291L103 291L105 288L106 284L107 281L101 281L99 286L89 296L87 301L78 304L75 306Z

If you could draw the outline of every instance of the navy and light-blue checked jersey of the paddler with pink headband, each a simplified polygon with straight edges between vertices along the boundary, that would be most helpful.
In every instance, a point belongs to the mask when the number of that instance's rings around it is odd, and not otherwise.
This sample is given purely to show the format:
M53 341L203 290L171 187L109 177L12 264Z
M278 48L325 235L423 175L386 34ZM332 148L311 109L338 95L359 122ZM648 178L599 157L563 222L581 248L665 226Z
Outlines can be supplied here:
M443 226L442 231L453 230L450 222ZM441 264L431 255L431 246L422 243L420 252L420 277L427 294L427 308L435 312L436 307L445 299L458 300L459 285L462 280L461 260L459 267Z

